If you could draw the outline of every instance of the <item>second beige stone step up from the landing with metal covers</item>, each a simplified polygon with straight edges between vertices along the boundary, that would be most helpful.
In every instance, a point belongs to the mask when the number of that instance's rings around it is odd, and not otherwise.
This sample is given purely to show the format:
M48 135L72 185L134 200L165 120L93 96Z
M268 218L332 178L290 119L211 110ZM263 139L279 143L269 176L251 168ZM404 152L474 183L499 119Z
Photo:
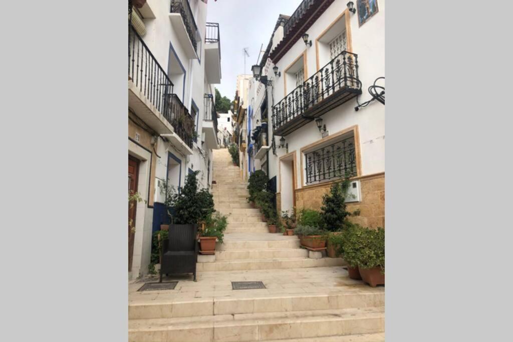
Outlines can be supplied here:
M287 249L255 249L255 250L231 250L216 251L215 260L243 260L243 259L275 259L275 258L295 258L307 257L308 250L302 248Z

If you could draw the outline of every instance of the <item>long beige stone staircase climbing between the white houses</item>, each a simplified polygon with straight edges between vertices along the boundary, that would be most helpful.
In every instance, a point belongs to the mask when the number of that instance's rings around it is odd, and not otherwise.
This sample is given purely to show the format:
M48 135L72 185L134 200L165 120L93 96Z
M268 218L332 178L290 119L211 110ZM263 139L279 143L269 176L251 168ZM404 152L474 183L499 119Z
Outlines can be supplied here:
M215 260L174 290L129 284L129 341L384 341L384 289L347 277L339 258L312 259L296 236L271 234L247 203L226 149L214 151L215 209L230 214ZM213 256L208 256L212 257ZM166 281L165 280L165 281ZM232 281L265 289L232 290Z

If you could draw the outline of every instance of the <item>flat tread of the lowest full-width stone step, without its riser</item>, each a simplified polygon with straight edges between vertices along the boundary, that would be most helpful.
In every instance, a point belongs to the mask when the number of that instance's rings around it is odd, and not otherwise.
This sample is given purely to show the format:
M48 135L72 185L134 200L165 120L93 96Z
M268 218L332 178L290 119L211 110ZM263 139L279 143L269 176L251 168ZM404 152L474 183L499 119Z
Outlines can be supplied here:
M265 324L290 324L305 323L308 321L327 321L327 320L353 320L361 318L384 317L385 307L366 307L350 309L326 309L326 310L308 310L308 311L283 311L283 312L258 312L241 314L223 314L210 316L194 317L174 317L174 318L147 318L147 319L129 319L128 324L141 324L141 328L129 328L128 331L141 331L157 329L159 326L170 329L194 329L206 328L212 324L222 326L247 326ZM191 319L192 318L192 319ZM148 325L144 327L144 325ZM146 329L145 329L146 328Z

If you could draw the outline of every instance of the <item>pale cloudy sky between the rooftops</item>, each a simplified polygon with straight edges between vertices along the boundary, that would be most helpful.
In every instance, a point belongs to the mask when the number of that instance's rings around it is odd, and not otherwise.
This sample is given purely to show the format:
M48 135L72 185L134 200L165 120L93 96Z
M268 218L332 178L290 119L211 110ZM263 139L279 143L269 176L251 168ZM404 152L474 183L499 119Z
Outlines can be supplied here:
M291 15L302 0L209 0L207 22L219 23L221 40L221 95L233 99L237 75L251 74L260 47L267 48L280 14ZM248 48L244 68L244 48ZM261 53L260 58L264 52ZM260 62L260 59L259 59Z

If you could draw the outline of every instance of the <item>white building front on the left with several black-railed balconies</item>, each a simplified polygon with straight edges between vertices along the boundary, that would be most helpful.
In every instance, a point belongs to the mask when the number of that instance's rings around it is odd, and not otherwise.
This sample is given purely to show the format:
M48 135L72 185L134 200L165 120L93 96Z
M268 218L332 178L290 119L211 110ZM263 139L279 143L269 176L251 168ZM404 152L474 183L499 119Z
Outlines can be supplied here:
M134 278L148 271L152 233L169 223L161 186L179 191L199 171L200 187L211 187L212 150L220 147L212 94L221 82L221 50L219 25L206 22L201 0L130 5L129 191L145 200L129 212Z

